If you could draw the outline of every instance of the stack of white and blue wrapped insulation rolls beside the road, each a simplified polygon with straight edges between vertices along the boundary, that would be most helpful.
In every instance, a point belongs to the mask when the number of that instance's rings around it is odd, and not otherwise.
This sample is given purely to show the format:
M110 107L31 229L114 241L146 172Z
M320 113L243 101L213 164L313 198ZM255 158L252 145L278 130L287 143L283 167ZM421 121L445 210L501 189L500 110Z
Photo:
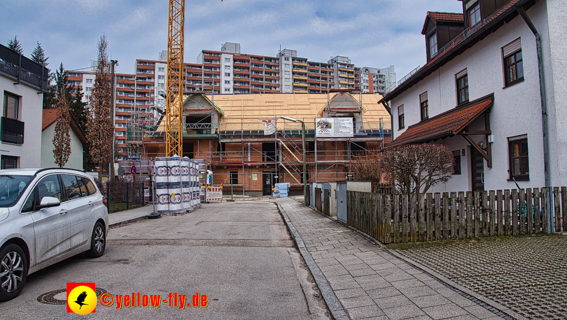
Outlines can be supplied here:
M196 162L187 157L155 158L157 212L181 214L201 206L198 193L195 194L198 186L195 166Z

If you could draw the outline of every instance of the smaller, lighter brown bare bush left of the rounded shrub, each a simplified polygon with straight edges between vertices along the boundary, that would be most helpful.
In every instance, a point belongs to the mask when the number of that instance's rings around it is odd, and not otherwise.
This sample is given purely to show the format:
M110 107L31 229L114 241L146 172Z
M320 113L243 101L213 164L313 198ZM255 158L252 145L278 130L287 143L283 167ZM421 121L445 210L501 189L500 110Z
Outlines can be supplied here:
M382 182L382 155L376 150L366 150L353 155L349 162L349 172L355 180L371 181L372 190L378 191Z

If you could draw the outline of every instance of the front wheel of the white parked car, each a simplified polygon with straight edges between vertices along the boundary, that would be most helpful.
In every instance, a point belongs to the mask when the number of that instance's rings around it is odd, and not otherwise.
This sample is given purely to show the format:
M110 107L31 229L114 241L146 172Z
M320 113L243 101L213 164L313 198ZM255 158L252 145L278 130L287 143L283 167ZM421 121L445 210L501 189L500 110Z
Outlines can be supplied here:
M22 292L28 275L28 262L22 248L14 243L0 248L0 259L0 301L8 301Z

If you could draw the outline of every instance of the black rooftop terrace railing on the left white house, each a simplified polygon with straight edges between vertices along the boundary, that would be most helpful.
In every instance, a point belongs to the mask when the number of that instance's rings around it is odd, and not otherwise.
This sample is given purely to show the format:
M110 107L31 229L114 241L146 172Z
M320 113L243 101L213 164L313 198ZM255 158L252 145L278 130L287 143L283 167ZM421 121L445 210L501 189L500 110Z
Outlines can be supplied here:
M0 44L0 73L9 75L43 92L49 85L49 70Z

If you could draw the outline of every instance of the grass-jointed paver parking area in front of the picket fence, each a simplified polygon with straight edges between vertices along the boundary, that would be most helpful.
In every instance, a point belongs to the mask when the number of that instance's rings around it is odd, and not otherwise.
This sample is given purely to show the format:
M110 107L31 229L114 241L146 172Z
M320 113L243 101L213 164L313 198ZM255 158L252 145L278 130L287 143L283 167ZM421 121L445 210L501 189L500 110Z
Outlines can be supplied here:
M567 235L396 252L526 318L567 319Z

